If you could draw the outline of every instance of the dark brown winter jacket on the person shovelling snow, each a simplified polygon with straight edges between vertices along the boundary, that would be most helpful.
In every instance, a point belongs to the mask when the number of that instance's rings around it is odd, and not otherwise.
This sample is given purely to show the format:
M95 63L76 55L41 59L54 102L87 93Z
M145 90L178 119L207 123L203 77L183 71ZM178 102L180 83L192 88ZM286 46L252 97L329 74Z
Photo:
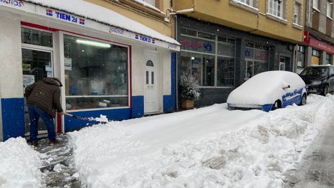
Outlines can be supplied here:
M24 97L26 97L26 104L33 104L54 118L56 117L56 111L63 111L60 100L61 89L57 81L52 78L47 77L27 86Z

